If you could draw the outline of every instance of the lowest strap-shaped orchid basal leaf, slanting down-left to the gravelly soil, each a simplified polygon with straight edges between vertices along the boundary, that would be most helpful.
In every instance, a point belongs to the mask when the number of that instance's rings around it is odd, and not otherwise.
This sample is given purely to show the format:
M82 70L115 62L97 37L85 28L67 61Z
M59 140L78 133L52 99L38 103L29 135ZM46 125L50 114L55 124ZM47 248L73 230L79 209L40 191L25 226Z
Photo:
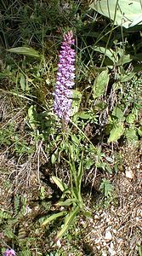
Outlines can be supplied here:
M56 240L60 239L62 236L65 235L65 232L70 228L71 224L77 217L77 213L79 212L79 210L80 210L79 207L76 207L73 211L71 211L70 214L68 214L65 217L65 224L63 228L60 230L60 232L58 233L58 235L56 236Z

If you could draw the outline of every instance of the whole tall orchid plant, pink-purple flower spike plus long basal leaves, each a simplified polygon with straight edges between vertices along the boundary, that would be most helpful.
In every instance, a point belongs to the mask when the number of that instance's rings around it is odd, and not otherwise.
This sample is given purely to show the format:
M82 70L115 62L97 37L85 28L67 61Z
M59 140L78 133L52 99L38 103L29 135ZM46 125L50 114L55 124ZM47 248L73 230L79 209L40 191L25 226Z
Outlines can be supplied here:
M54 91L54 113L60 118L65 120L68 124L71 115L71 96L72 96L72 86L74 85L75 78L75 50L71 49L71 45L75 44L73 39L73 33L67 32L64 35L64 41L61 45L60 50L60 61L58 64L57 81L55 84ZM66 138L67 141L67 138ZM86 211L85 206L82 201L81 185L82 185L82 173L83 173L83 152L82 157L78 166L76 168L75 154L71 147L71 143L68 142L66 146L69 160L66 162L69 165L70 170L70 186L67 186L58 177L52 177L54 183L62 191L62 196L60 201L56 204L58 207L70 207L71 210L60 211L54 213L52 216L46 218L42 225L49 224L56 218L65 217L65 224L60 232L56 236L56 240L59 240L64 236L65 232L70 228L72 222L77 217L79 212L90 217L90 212Z

